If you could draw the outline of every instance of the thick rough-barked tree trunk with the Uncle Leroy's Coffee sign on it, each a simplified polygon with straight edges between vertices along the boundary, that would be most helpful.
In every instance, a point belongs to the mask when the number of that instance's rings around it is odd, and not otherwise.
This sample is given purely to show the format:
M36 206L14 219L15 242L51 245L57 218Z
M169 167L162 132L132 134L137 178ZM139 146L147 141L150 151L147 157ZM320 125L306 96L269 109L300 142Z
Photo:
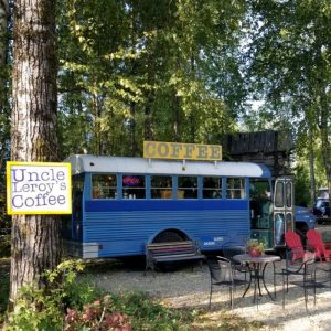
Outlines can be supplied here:
M11 159L55 161L55 0L15 0ZM10 299L60 263L60 223L52 215L12 217Z

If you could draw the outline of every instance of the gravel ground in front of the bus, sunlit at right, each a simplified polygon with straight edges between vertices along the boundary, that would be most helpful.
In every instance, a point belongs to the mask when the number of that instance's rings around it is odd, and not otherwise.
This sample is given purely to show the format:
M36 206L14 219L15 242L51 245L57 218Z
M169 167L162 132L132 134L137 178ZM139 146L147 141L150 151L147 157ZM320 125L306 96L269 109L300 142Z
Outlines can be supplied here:
M276 264L280 270L281 263ZM325 265L325 264L324 264ZM271 267L267 268L266 282L273 292ZM325 280L329 274L319 273L318 279ZM143 276L142 270L128 269L122 266L104 269L96 274L96 284L109 292L145 291L151 297L161 300L162 303L180 308L196 307L206 308L209 305L210 275L206 265L183 267L173 273L149 271ZM331 328L331 289L330 282L317 289L317 305L313 306L312 290L309 290L308 312L305 308L303 288L293 286L286 295L286 308L282 310L281 276L276 279L276 301L271 301L266 292L258 305L253 302L253 289L245 298L242 298L245 286L236 288L233 312L265 323L268 330L330 330ZM226 288L216 289L213 295L211 318L220 310L231 311L228 305L228 291Z

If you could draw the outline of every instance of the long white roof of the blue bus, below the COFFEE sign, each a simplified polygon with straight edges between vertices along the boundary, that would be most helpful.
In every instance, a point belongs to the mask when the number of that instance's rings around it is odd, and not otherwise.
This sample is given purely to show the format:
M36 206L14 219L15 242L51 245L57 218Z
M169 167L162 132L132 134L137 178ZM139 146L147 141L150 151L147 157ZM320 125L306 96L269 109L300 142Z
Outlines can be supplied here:
M270 178L269 169L252 162L158 160L142 158L76 154L64 160L72 174L83 172L128 174L181 174Z

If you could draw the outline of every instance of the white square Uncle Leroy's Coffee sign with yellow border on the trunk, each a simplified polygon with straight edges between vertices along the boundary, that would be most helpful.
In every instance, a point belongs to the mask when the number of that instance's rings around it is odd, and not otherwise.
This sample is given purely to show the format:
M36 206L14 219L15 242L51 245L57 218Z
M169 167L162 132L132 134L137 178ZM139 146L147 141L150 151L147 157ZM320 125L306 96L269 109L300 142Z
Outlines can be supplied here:
M71 214L71 164L7 162L8 214Z

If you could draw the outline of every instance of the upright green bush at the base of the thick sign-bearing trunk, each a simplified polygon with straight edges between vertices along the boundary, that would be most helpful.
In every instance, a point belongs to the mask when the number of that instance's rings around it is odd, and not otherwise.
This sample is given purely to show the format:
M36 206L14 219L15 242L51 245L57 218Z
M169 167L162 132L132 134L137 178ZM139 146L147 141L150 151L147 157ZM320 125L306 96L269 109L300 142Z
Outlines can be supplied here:
M81 270L81 261L66 260L44 274L45 286L22 287L6 330L62 330L64 305L86 303L84 300L89 301L97 295L90 285L81 282L79 292L84 296L70 297L77 290L75 281Z

